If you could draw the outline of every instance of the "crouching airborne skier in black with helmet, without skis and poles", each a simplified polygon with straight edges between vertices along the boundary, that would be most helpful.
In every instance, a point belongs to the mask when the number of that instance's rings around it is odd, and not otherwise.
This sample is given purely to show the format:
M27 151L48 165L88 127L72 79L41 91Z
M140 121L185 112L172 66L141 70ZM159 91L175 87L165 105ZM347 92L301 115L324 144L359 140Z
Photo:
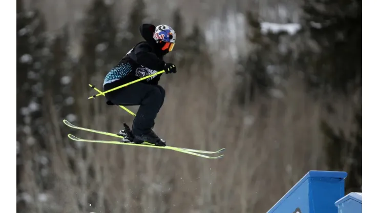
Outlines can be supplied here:
M163 60L175 45L175 31L167 25L155 27L142 24L139 31L144 41L131 49L104 79L104 91L121 86L161 70L166 74L176 73L176 66ZM132 130L124 123L119 132L123 142L165 146L166 142L153 131L154 120L163 105L165 91L158 85L161 74L130 84L127 87L106 93L108 105L140 105L133 121Z

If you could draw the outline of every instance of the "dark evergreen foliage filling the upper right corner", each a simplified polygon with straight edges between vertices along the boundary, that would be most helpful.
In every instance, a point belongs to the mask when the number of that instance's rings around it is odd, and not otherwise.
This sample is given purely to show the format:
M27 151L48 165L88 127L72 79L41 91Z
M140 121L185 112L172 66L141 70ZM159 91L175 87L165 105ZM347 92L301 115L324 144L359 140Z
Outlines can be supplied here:
M305 26L317 41L308 82L348 94L362 86L362 1L310 1ZM315 76L315 78L312 76Z

